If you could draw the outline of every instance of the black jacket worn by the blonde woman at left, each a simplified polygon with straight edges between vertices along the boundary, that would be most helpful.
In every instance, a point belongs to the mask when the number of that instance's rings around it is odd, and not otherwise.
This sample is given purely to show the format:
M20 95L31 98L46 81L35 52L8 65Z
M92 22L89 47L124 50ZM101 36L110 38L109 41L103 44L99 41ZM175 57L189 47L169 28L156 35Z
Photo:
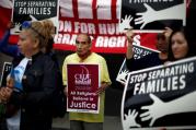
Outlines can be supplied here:
M23 57L13 60L16 67ZM21 108L21 130L51 129L51 98L57 86L58 67L42 52L32 57L23 75L23 92L13 92L10 103Z

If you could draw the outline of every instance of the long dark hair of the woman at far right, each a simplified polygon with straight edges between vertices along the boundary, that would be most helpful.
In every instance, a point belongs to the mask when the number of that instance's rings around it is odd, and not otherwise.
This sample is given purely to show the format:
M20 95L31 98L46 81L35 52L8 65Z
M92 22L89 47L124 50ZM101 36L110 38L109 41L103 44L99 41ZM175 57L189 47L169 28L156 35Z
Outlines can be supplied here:
M172 37L176 34L176 33L181 33L183 34L183 36L185 37L187 45L188 45L188 52L185 56L185 58L188 57L193 57L196 56L196 52L194 51L195 49L195 43L196 43L196 37L194 37L194 33L191 32L191 29L188 29L187 27L181 27L181 28L176 28L172 32L171 36L170 36L170 42L169 42L169 60L170 61L175 61L176 59L174 58L174 55L172 52Z

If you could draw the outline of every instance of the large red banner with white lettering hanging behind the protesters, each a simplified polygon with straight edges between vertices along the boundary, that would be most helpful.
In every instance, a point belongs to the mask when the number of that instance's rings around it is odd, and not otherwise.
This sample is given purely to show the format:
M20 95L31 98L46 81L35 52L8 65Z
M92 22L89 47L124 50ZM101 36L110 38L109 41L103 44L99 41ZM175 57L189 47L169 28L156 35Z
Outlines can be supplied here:
M0 0L0 37L11 21L13 3ZM104 12L104 15L103 15ZM92 51L125 54L126 37L118 31L119 2L117 0L60 0L59 27L55 35L55 48L76 50L74 40L79 33L92 36ZM155 49L157 34L138 34L137 45ZM18 43L18 35L12 35L10 43Z

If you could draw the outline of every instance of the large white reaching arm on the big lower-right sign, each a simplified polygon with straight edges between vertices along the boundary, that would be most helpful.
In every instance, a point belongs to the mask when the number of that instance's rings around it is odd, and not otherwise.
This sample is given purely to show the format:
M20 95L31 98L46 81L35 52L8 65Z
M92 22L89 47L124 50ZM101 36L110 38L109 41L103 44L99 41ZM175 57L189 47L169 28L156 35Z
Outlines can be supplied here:
M166 103L162 102L153 94L150 94L150 97L152 98L153 104L141 107L141 109L148 110L140 114L141 121L151 119L149 126L152 126L158 118L166 115L196 111L196 91Z

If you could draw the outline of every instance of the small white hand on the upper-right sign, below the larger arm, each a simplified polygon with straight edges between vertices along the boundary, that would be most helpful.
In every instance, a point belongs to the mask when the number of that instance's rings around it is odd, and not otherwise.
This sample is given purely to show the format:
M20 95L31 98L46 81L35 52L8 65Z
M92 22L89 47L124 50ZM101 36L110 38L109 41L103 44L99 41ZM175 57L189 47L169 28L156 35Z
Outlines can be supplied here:
M125 15L125 19L122 19L122 23L119 26L119 32L124 32L127 28L132 28L132 26L130 26L130 22L132 21L132 16L131 15Z

